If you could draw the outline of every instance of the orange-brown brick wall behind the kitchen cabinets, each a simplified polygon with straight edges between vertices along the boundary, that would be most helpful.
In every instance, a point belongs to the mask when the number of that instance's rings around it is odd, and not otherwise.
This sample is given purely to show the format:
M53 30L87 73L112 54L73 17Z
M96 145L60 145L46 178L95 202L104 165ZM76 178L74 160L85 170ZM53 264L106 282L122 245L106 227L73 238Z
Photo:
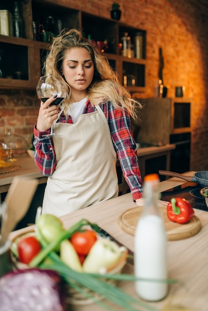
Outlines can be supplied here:
M62 0L73 8L103 17L110 16L112 0ZM121 22L147 31L146 92L155 96L159 70L159 47L163 50L163 81L185 85L185 96L193 98L191 169L208 170L208 2L207 0L118 0ZM0 129L14 128L30 137L39 102L35 92L0 90Z

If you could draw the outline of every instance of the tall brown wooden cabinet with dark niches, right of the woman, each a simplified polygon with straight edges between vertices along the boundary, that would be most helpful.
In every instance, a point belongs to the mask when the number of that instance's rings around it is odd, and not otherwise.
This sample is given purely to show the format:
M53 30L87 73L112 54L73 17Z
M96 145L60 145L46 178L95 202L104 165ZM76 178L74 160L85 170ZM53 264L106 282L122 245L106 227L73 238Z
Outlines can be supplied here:
M139 111L142 122L134 124L135 131L138 127L136 142L174 144L176 148L171 152L170 170L178 173L190 170L192 99L142 98L139 101L143 109Z

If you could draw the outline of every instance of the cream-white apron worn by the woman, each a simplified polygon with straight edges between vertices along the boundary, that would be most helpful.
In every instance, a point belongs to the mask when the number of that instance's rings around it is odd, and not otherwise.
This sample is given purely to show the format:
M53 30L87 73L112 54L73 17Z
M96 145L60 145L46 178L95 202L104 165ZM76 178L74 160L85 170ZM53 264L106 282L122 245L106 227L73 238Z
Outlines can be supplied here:
M57 165L48 177L43 214L62 216L118 195L116 153L100 108L75 124L56 123Z

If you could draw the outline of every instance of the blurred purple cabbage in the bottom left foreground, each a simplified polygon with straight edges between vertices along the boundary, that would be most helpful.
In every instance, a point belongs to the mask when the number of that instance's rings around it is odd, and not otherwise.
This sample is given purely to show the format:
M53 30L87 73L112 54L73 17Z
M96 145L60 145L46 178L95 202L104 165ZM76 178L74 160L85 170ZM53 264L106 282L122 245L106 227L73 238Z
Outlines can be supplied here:
M64 284L56 271L25 269L0 278L0 311L64 311Z

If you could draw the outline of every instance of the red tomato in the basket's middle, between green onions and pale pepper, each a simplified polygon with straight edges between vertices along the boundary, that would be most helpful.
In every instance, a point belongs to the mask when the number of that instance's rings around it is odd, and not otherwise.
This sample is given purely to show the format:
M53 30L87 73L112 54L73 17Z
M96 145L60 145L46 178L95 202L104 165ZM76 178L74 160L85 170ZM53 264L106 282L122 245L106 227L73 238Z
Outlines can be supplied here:
M79 255L87 255L97 240L93 230L77 231L71 236L71 242Z

